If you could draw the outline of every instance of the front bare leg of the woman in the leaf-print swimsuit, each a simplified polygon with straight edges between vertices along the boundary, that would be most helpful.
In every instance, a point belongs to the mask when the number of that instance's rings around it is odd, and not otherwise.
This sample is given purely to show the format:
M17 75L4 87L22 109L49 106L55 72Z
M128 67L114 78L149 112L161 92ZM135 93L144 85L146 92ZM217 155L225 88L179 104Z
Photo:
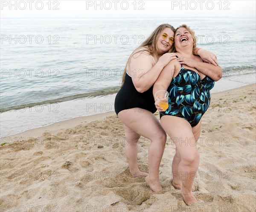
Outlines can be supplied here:
M184 202L187 205L196 203L197 200L192 194L192 185L199 166L199 153L192 127L185 119L176 116L163 116L161 124L180 154L178 173L182 183L181 194Z

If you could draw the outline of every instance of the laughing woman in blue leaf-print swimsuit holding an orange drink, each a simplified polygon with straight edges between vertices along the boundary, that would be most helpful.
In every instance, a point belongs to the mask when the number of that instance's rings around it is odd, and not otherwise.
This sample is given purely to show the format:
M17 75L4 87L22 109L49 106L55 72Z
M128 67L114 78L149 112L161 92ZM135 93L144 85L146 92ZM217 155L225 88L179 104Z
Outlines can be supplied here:
M189 205L197 200L192 194L192 184L199 166L196 142L201 133L201 117L210 103L210 90L214 81L222 76L220 66L203 63L193 54L196 48L195 33L183 24L175 31L177 60L172 60L154 84L158 90L169 92L169 107L159 108L163 129L176 146L172 160L172 185L181 189L184 202ZM153 97L153 96L152 96Z

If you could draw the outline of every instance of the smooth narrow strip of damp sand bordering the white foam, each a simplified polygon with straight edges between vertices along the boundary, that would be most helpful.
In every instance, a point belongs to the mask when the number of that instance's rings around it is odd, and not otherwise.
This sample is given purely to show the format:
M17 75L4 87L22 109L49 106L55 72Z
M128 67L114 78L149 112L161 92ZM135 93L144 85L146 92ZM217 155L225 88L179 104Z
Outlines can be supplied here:
M218 82L217 82L218 83ZM226 92L231 92L233 90L237 90L238 88L246 88L246 87L254 87L256 88L256 84L249 84L249 85L244 85L244 86L240 86L240 87L236 87L230 90L224 90L221 92L216 92L216 93L212 93L212 96L217 96L217 95L222 95ZM210 103L210 105L212 104L212 101ZM89 115L89 116L81 116L81 117L75 117L75 118L71 118L71 119L66 119L63 121L59 121L59 122L55 122L46 126L42 126L39 128L33 128L30 130L26 130L17 134L12 134L9 136L4 136L1 137L1 143L3 142L3 140L11 140L12 138L29 138L29 137L36 137L38 136L38 134L43 134L45 132L51 133L51 134L57 134L60 131L66 130L67 128L74 128L79 124L84 124L84 123L90 123L96 120L102 120L104 118L106 118L107 116L113 116L116 115L115 111L108 111L105 113L97 113L97 114L93 114L93 115Z

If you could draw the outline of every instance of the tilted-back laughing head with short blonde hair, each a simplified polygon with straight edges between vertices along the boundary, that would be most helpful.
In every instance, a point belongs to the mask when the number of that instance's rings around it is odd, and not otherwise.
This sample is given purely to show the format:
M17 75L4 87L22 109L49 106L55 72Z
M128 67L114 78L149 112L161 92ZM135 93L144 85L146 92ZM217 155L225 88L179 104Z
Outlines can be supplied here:
M195 32L190 29L188 26L183 24L176 29L175 32L175 49L190 46L193 51L196 47L196 37Z

